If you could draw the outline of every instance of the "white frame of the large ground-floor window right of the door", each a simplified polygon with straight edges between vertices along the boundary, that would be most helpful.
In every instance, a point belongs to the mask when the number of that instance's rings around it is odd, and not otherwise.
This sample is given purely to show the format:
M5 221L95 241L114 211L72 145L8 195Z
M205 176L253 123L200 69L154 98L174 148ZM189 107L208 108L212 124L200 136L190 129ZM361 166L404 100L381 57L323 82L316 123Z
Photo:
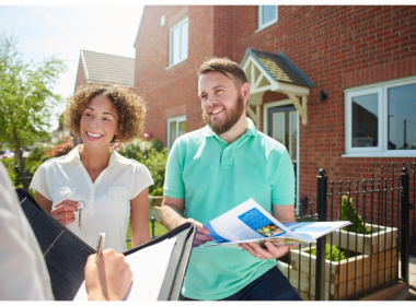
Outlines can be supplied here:
M392 87L416 84L416 78L404 78L371 85L345 90L345 153L343 157L409 157L415 150L388 150L388 91ZM353 97L379 94L379 145L377 148L353 148Z

